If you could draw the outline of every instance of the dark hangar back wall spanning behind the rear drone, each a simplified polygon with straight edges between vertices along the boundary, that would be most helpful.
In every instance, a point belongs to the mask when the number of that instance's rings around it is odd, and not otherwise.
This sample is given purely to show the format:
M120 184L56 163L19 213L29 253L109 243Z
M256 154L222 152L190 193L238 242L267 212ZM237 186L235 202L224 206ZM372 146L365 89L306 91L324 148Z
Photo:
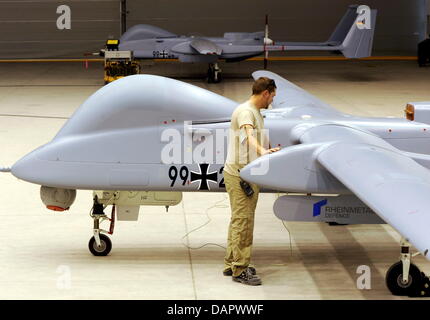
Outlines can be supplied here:
M220 36L264 30L271 38L328 38L352 0L127 0L127 27L154 24L177 34ZM426 0L367 0L377 8L374 54L414 54L425 37ZM328 5L330 4L330 5ZM71 9L71 29L57 28L60 5ZM0 58L82 57L120 35L120 0L0 0Z

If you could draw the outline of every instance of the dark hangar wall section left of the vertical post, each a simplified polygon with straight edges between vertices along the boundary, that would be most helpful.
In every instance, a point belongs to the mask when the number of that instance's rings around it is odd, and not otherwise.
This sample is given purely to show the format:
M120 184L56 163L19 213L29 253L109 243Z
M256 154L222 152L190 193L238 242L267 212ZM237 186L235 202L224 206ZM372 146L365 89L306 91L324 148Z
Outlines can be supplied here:
M58 29L68 5L71 29ZM83 58L120 33L118 0L0 0L0 58Z

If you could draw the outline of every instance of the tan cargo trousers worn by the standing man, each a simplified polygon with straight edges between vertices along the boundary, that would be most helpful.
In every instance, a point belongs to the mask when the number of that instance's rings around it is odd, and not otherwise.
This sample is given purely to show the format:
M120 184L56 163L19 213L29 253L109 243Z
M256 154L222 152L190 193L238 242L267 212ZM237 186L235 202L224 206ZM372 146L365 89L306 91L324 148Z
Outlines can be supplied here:
M251 184L254 194L248 197L240 186L240 177L225 171L224 183L231 206L224 271L231 268L233 276L237 277L248 267L251 260L255 207L260 190L257 185Z

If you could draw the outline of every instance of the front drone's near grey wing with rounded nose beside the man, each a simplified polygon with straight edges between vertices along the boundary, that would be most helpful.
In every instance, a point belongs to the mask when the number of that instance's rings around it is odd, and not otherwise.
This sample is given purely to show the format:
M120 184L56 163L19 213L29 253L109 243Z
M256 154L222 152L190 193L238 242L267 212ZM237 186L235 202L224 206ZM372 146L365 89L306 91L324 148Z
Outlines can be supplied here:
M312 127L299 140L298 146L251 162L241 177L267 188L294 191L290 184L304 178L299 176L303 169L328 172L430 259L430 171L412 159L413 154L370 132L336 124ZM303 147L310 152L297 156L294 150ZM253 168L262 166L265 174L252 174Z

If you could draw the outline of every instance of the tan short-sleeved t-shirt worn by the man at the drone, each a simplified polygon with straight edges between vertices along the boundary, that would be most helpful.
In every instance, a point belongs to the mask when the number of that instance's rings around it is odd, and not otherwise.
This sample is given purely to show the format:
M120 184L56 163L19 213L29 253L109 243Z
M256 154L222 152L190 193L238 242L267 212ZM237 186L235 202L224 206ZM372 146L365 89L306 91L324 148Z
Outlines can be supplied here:
M264 134L264 120L260 110L249 100L239 105L231 116L231 125L228 138L227 158L224 171L239 176L239 171L251 161L258 158L254 148L249 148L246 130L243 127L249 124L254 128L254 137L264 148L268 140Z

